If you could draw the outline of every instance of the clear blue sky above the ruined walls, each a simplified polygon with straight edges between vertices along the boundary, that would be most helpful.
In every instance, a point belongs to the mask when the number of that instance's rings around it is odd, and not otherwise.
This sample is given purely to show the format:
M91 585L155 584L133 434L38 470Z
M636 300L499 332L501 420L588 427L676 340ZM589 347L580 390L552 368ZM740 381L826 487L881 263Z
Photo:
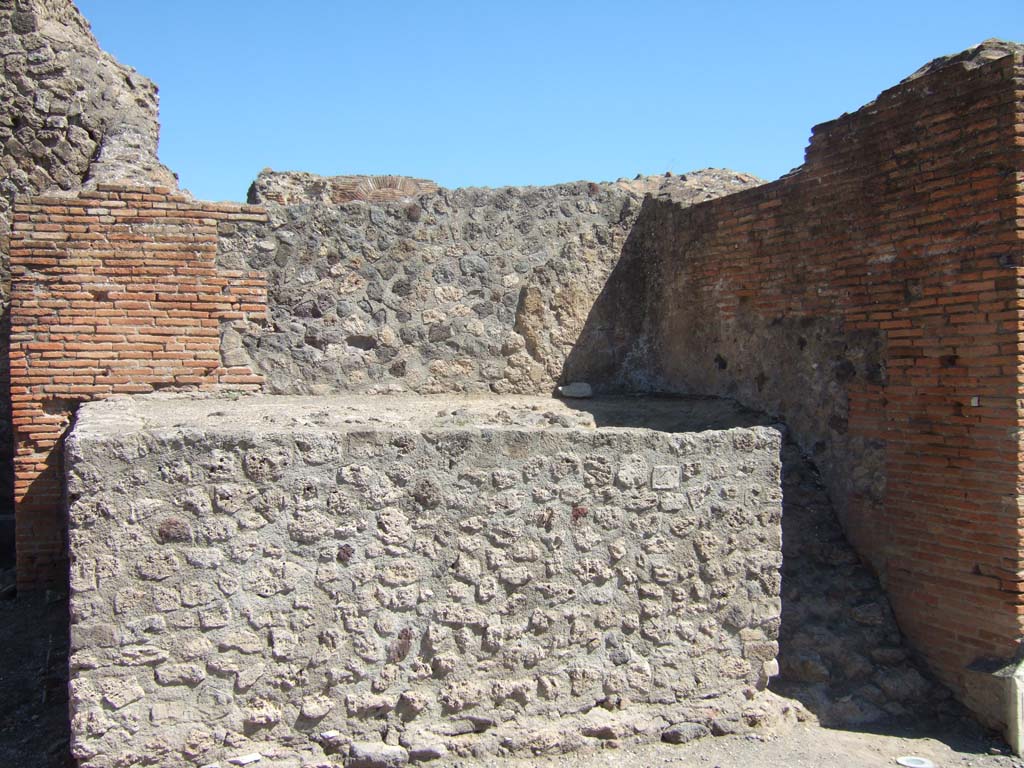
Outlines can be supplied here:
M989 37L1024 0L77 0L160 86L161 157L242 200L261 168L445 186L728 167Z

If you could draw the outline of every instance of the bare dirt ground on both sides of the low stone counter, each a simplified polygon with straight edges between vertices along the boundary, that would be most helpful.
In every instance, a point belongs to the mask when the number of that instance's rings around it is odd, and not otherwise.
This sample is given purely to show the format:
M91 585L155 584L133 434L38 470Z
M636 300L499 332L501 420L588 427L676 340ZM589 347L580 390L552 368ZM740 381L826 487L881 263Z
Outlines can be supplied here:
M0 571L0 586L12 575ZM61 595L0 599L0 768L69 768L68 620ZM547 758L438 761L459 768L876 768L896 758L938 768L1024 768L1007 745L967 720L901 729L833 730L811 724L781 733L709 737L682 745L622 744ZM258 766L258 764L256 764Z

